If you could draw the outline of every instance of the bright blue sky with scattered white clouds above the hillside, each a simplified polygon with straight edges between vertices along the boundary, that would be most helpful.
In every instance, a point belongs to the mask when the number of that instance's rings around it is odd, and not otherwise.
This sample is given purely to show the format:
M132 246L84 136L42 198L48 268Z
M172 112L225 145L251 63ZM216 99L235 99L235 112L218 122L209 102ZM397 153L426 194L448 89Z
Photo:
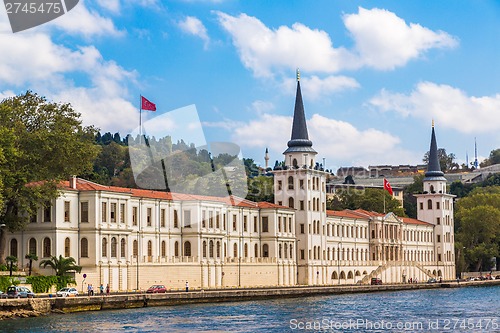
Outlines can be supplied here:
M0 98L31 89L122 134L140 94L144 120L195 104L207 142L261 164L286 149L296 68L327 168L421 163L432 119L459 163L475 137L480 159L500 147L497 1L80 0L16 34L2 8L0 50Z

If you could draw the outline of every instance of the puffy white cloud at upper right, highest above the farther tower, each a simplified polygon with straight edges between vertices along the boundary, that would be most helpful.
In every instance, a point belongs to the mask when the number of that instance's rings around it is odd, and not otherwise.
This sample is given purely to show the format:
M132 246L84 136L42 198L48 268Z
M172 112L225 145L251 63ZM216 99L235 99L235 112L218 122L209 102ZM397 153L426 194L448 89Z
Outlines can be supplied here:
M379 70L404 66L433 48L455 47L457 40L443 31L407 24L384 9L364 9L344 15L344 24L355 42L360 65Z

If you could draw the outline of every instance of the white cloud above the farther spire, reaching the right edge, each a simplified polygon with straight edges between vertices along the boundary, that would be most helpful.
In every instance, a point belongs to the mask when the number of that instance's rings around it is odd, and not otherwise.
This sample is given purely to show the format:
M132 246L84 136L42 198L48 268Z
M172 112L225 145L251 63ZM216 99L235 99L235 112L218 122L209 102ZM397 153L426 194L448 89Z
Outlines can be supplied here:
M500 94L468 96L466 92L444 84L421 82L409 94L382 90L369 104L381 111L395 111L462 133L500 131Z

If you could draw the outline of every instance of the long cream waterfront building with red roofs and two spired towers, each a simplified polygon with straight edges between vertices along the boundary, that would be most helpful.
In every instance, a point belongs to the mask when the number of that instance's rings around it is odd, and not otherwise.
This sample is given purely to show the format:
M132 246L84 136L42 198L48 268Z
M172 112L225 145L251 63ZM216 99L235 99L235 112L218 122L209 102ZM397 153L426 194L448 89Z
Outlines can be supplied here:
M453 196L439 169L432 128L418 219L326 210L326 173L316 164L297 82L285 166L275 203L103 186L72 177L7 253L73 257L79 288L111 290L255 287L453 279ZM36 263L34 265L37 267ZM37 269L50 274L50 269ZM83 278L86 274L86 278Z

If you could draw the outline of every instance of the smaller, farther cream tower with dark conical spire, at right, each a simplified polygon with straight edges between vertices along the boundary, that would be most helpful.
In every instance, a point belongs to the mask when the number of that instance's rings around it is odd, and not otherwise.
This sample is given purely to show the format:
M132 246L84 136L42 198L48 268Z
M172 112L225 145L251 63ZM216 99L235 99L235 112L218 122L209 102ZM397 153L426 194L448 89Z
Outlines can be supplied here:
M437 276L455 279L455 245L452 194L446 192L446 178L439 163L434 121L432 122L429 162L423 180L423 193L416 194L417 218L434 225L434 253Z

